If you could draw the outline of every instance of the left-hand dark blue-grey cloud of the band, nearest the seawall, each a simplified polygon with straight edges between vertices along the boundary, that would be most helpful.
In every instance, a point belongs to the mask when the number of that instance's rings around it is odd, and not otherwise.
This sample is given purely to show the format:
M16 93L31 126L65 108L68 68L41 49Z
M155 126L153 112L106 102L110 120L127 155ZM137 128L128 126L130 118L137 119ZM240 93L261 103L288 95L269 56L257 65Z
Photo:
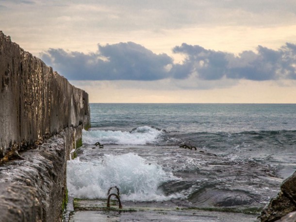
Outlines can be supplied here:
M95 53L49 49L42 59L68 79L156 80L169 77L172 58L128 42L101 46Z

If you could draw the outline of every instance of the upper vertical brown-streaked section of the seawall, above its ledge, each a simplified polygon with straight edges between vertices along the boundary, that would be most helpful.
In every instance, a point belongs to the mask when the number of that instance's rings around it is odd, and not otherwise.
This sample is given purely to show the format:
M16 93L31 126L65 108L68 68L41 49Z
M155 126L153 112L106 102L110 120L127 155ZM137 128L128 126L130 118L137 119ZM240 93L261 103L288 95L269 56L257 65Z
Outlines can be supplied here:
M0 32L0 158L89 124L88 94Z

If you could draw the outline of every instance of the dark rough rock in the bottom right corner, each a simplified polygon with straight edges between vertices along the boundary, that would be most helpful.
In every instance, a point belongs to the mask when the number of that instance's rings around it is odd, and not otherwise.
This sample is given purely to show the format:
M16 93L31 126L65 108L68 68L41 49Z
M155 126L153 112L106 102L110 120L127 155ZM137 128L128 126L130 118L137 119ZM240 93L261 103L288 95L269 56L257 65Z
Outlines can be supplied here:
M294 211L296 211L296 172L282 182L278 196L270 201L269 205L261 213L260 218L262 222L277 220L289 222L292 221L292 218L296 221ZM294 213L286 216L291 212Z

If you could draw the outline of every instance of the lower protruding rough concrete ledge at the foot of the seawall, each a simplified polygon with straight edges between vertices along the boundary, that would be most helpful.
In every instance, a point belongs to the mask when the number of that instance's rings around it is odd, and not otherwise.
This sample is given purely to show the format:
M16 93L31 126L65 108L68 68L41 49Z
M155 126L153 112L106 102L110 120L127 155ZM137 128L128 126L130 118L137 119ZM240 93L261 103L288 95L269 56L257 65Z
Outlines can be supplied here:
M65 138L54 136L22 153L23 160L0 166L0 221L61 221L65 147Z

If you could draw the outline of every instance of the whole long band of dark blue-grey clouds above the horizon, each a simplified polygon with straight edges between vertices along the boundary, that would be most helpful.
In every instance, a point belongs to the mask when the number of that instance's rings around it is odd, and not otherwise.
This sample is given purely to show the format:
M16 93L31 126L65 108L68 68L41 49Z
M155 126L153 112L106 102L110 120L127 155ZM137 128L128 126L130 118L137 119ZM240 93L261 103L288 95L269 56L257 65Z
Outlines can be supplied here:
M173 48L185 56L174 64L166 54L155 54L128 42L99 45L95 53L49 49L42 59L71 80L157 80L187 79L194 74L201 80L219 79L296 79L296 45L287 43L278 50L259 46L256 52L239 55L183 43Z

